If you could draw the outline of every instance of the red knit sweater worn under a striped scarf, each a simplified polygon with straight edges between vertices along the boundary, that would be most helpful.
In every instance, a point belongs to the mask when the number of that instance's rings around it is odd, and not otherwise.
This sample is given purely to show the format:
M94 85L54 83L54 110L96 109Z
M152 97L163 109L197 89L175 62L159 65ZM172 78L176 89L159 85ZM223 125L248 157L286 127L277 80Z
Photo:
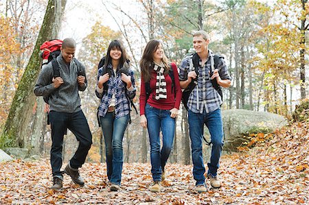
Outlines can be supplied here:
M177 108L179 110L179 106L181 103L181 97L183 93L181 93L181 86L179 84L179 76L176 64L172 63L172 69L174 72L174 91L172 91L172 79L168 73L164 75L166 81L166 91L168 94L167 99L159 99L156 100L152 96L156 95L156 76L157 73L155 71L152 72L153 79L150 80L150 88L152 93L150 93L149 98L147 99L147 103L157 109L161 110L171 110L172 108ZM175 95L176 93L176 95ZM139 112L140 114L145 114L145 106L146 106L146 88L143 77L141 77L141 95L139 96Z

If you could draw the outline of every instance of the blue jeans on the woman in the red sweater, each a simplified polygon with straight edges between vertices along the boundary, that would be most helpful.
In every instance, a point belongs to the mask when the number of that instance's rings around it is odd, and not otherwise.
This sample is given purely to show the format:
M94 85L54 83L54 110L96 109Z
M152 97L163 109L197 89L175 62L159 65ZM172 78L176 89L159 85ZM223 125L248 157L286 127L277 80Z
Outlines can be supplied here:
M146 104L145 114L150 140L151 173L154 182L161 181L168 156L174 141L175 119L170 117L170 110L160 110ZM163 136L163 146L160 151L160 130Z

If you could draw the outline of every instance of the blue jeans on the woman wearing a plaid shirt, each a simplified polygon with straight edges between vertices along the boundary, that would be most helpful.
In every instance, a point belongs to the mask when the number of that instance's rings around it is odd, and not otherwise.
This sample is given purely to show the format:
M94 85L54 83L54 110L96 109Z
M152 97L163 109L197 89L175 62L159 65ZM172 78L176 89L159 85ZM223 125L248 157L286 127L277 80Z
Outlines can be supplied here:
M122 164L124 162L122 139L128 119L128 115L115 119L115 112L106 112L104 117L100 116L105 141L107 178L111 183L118 185L122 180Z

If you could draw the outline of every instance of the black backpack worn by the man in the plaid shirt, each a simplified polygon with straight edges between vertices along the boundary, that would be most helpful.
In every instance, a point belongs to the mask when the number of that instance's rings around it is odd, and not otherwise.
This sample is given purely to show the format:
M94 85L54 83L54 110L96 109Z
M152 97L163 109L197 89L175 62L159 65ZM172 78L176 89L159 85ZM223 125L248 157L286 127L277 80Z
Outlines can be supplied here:
M187 88L185 88L185 90L183 91L183 97L182 97L181 100L183 101L183 106L185 107L186 110L188 109L187 108L187 101L189 100L190 94L192 93L194 87L197 84L198 67L199 67L199 60L200 60L200 57L198 56L197 53L194 53L194 54L191 54L191 55L192 55L192 62L193 62L194 71L196 72L196 78L193 79L190 82L190 84L187 86ZM220 58L223 58L223 57L219 56L219 55L214 55L214 67L215 67L215 69L218 68L218 64L220 62ZM210 69L210 76L211 75L213 75L212 69ZM219 93L221 99L223 100L221 86L219 86L217 80L216 79L211 80L211 84L212 84L212 86L214 86L216 91Z

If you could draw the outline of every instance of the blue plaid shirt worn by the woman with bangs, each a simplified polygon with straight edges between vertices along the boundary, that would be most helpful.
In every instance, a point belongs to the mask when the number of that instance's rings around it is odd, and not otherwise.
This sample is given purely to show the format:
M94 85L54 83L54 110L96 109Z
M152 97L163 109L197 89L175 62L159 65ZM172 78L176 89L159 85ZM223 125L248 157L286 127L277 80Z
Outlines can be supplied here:
M108 64L108 68L113 70L111 64ZM102 68L98 70L98 80L102 75ZM119 69L118 69L119 70ZM131 76L131 82L133 86L133 90L128 91L126 88L126 84L122 81L122 75L117 70L116 76L111 76L107 82L108 90L107 92L99 93L97 89L95 89L95 95L101 99L101 103L99 106L99 115L104 117L108 106L111 103L111 98L115 95L115 118L124 117L130 112L130 101L128 98L132 99L135 96L136 88L135 88L135 77L132 69L128 70L128 75ZM98 81L97 81L98 87ZM128 96L128 98L126 97Z

